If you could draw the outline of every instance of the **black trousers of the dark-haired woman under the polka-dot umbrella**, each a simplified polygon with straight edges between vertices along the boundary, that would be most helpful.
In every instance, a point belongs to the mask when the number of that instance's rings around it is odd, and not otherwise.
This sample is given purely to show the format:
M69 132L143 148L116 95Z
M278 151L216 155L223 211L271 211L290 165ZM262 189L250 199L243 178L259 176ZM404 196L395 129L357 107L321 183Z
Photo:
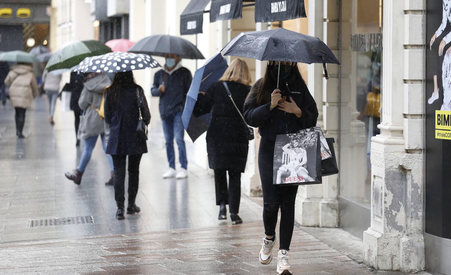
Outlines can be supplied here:
M143 155L129 155L129 205L135 203L139 183L139 163ZM126 155L111 155L114 165L114 193L116 202L125 201Z

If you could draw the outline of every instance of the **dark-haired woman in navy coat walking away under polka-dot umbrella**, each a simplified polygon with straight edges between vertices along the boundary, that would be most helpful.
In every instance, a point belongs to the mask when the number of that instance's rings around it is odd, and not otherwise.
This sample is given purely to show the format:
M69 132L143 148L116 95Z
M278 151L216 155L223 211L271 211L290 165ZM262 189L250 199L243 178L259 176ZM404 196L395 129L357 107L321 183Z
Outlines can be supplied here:
M139 120L148 125L150 111L143 88L135 84L133 72L116 73L106 89L105 122L110 125L106 153L113 158L116 219L124 219L125 162L129 158L129 199L127 214L141 211L135 204L139 183L139 163L147 153L146 139L137 133Z

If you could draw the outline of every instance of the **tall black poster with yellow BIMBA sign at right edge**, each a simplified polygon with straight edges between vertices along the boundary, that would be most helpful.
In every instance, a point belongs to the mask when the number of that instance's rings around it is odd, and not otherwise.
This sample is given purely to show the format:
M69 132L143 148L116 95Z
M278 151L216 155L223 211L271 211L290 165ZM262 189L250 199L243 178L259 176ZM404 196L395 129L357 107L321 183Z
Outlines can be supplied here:
M451 238L451 0L426 2L426 233Z

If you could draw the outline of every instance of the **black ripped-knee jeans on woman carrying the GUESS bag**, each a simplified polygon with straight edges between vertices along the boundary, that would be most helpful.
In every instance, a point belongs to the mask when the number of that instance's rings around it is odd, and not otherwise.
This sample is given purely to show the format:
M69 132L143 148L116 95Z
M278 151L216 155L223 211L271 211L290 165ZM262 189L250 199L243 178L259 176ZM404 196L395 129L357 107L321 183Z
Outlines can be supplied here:
M295 226L295 200L298 186L278 186L273 184L274 143L265 138L260 141L258 170L263 191L263 225L265 234L276 234L277 215L281 209L280 247L290 250Z

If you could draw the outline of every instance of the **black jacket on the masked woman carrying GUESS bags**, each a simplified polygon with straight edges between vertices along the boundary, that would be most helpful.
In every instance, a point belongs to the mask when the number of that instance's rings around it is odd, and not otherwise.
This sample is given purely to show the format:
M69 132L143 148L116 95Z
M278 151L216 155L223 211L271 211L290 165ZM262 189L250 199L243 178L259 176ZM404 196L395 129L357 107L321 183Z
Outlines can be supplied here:
M264 91L268 103L259 106L256 91L261 83L262 79L255 82L249 98L244 102L244 119L250 126L258 127L258 133L262 138L276 141L278 134L296 133L301 129L316 126L318 119L316 102L302 79L292 78L288 82L281 80L279 86L282 96L286 96L287 101L290 101L289 97L291 96L302 110L301 118L285 113L277 106L271 111L269 110L271 93L276 89L275 85ZM288 87L286 83L288 83Z

